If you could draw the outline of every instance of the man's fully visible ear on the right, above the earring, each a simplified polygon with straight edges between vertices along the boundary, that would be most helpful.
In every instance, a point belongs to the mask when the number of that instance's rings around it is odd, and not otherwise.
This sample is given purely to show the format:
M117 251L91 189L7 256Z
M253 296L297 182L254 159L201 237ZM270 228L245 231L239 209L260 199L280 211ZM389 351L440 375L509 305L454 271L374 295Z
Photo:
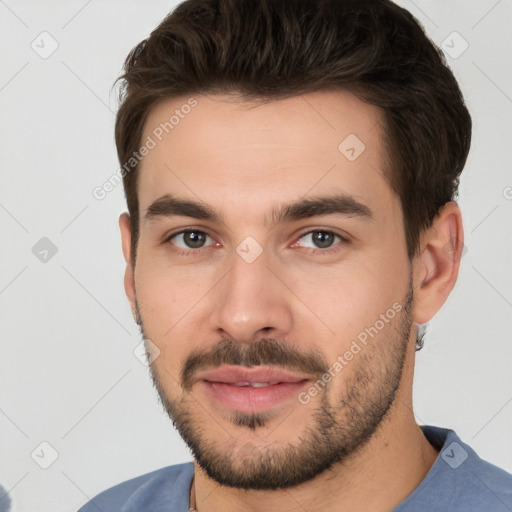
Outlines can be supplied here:
M418 324L430 321L455 286L464 248L462 215L454 202L446 203L423 233L414 258L414 310Z

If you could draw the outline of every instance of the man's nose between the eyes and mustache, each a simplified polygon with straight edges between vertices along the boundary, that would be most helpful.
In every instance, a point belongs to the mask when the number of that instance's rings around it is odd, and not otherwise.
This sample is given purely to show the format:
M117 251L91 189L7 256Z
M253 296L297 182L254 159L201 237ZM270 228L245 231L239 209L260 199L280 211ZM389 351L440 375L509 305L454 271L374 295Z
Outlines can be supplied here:
M288 334L292 296L276 275L279 269L270 268L265 251L252 263L235 253L230 271L216 287L211 328L239 342Z

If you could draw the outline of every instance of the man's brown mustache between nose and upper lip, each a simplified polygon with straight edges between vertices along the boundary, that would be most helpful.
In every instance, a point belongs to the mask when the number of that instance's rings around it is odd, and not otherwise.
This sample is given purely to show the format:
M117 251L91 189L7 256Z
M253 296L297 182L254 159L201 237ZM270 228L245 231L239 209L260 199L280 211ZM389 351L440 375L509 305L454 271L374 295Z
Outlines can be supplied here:
M301 352L276 339L262 339L249 344L223 339L210 350L195 351L187 357L180 374L183 389L191 390L199 371L222 365L277 366L318 376L329 369L325 358L317 350Z

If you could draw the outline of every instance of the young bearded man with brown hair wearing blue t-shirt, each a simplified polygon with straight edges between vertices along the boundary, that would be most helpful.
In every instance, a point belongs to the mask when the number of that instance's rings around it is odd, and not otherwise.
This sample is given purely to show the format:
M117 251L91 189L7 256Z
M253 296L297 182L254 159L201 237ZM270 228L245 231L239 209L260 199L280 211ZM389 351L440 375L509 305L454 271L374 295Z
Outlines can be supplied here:
M125 289L194 462L83 512L512 510L412 409L471 119L386 0L187 0L128 56Z

